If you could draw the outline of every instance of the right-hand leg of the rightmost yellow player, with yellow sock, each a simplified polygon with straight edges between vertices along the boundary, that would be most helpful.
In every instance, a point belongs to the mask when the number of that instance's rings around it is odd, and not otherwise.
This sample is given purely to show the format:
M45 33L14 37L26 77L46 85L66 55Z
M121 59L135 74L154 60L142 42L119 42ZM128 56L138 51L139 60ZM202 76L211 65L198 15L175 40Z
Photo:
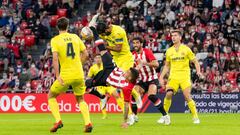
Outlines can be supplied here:
M200 120L198 118L196 104L191 97L191 81L190 80L183 81L180 85L181 85L181 88L183 89L184 98L187 101L188 107L192 113L193 123L199 124Z

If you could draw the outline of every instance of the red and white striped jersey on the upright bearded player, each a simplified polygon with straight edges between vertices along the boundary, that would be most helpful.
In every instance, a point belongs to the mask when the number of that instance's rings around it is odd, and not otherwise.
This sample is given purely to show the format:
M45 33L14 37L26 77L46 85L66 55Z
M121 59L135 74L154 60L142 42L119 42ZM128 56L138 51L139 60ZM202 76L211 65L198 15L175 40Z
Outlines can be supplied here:
M138 63L136 62L138 59L142 60L143 62L151 62L153 60L156 60L155 56L153 55L153 52L147 48L143 48L143 51L140 54L134 51L133 56L134 56L135 66L138 65ZM143 82L148 82L157 78L158 76L155 68L149 67L147 65L143 65L142 68L140 68L139 79L138 79L139 81L141 80Z

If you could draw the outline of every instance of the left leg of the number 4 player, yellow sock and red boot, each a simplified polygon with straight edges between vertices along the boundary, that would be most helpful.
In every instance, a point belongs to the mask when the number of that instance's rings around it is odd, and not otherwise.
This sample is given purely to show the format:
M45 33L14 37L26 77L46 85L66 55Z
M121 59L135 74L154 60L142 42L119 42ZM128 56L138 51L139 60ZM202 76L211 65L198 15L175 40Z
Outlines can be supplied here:
M59 95L59 93L64 92L67 88L68 87L67 87L66 83L64 86L62 86L58 82L58 80L55 80L55 82L51 86L50 91L48 93L48 105L49 105L50 111L56 121L54 126L50 129L50 132L56 132L59 128L63 127L56 97Z

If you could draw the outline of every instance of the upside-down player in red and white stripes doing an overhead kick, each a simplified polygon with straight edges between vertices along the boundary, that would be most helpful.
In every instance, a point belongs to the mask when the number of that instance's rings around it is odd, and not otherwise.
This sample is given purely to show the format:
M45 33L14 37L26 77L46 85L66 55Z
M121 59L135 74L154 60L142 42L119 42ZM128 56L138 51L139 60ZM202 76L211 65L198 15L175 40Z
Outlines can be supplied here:
M106 50L104 41L99 39L95 41L96 46L98 47L103 63L103 70L99 71L96 76L92 79L86 80L87 89L96 87L96 86L113 86L115 88L122 89L124 96L124 122L122 127L126 128L128 126L128 110L129 102L131 100L131 92L136 84L138 78L138 71L134 68L130 68L126 72L116 67L113 62L112 56Z

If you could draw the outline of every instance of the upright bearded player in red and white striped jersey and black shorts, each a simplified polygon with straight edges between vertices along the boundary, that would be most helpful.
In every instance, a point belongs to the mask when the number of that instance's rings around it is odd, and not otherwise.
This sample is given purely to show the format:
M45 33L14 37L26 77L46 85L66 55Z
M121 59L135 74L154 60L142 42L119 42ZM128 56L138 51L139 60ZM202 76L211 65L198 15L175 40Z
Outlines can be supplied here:
M139 79L135 89L137 89L141 95L145 93L148 94L148 99L162 113L164 124L169 125L170 117L164 110L161 99L156 96L157 89L160 87L158 76L155 70L155 68L159 66L158 61L150 49L143 48L142 46L142 39L140 37L135 37L133 39L133 56L135 60L135 66L139 70ZM133 108L132 110L134 111L136 109Z

